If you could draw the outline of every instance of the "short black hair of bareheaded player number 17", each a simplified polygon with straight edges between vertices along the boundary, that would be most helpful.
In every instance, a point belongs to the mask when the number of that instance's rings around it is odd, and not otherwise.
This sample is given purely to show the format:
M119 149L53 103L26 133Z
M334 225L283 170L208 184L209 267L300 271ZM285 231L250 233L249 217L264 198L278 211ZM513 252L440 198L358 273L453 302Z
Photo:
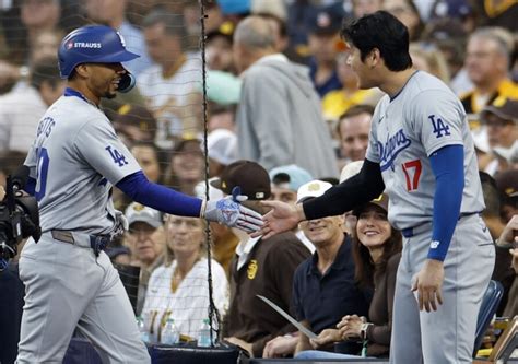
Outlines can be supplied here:
M403 71L412 67L409 30L386 11L380 10L346 21L340 35L345 42L358 48L362 61L376 48L390 71Z

